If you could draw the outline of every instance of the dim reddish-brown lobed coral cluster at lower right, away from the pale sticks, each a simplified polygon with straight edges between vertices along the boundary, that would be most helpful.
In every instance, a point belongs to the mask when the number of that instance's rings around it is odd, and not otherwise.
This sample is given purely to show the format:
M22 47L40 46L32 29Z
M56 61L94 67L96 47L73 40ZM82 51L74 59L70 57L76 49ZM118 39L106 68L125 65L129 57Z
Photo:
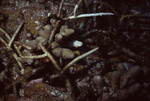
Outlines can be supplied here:
M118 64L120 66L120 64ZM94 75L91 77L89 74L89 77L83 78L83 80L78 82L78 88L81 92L85 92L83 87L87 85L91 85L91 89L88 90L95 94L95 91L98 94L90 95L95 96L97 99L101 101L116 101L116 100L123 100L130 96L134 96L136 94L139 94L138 92L141 90L142 85L138 83L139 79L137 77L141 76L142 70L139 68L139 66L133 66L129 70L125 70L124 68L106 73L105 75ZM91 80L87 80L87 78L92 78ZM87 82L83 82L87 80ZM79 85L80 84L80 85ZM124 84L122 86L122 84ZM87 86L88 87L88 86ZM82 93L81 93L82 94ZM88 93L87 93L88 94ZM88 95L87 95L88 96ZM80 96L80 100L84 99L84 97ZM80 101L79 100L79 101ZM99 101L98 100L98 101Z

